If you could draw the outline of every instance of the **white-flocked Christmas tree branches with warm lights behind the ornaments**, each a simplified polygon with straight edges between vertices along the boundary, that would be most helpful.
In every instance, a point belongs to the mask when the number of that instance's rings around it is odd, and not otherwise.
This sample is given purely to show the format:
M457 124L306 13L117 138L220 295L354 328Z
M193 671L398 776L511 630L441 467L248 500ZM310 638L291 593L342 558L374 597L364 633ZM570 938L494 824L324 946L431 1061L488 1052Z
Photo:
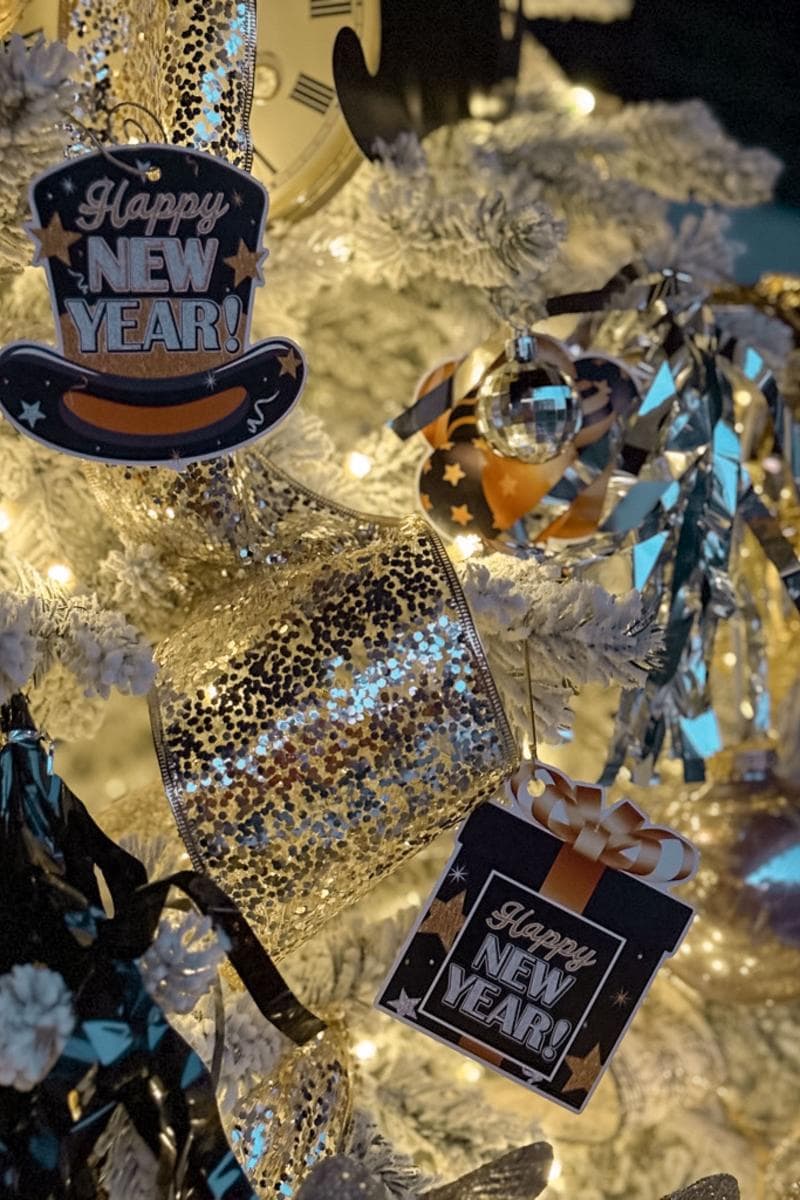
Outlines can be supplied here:
M616 19L628 7L625 0L525 2L530 17ZM58 44L11 38L0 52L4 343L53 336L23 223L31 178L55 164L72 138L73 72L74 60ZM698 101L622 107L608 100L591 115L584 107L528 37L516 108L506 120L465 122L425 145L404 138L384 148L379 162L360 167L323 210L270 229L267 284L258 295L253 335L281 328L296 336L312 376L302 409L255 446L255 461L269 457L344 504L403 514L415 505L420 445L401 446L383 426L410 402L426 367L470 350L499 316L535 320L547 296L597 287L632 259L680 265L700 280L729 274L734 248L724 215L712 206L768 199L775 160L736 146ZM710 208L675 233L668 203L687 199ZM782 367L789 352L784 328L753 313L740 319ZM144 696L154 678L151 646L180 624L207 580L192 547L176 547L161 524L154 522L148 538L146 522L126 530L125 512L109 518L110 478L102 481L101 508L97 480L77 460L7 425L0 438L0 700L28 689L52 736L83 739L82 749L59 751L61 774L104 811L116 834L130 824L128 845L152 874L164 874L181 860L178 838L143 841L146 830L125 799L142 784L151 796L157 790L154 762L142 756L144 702L103 702L113 689ZM121 487L122 509L127 494ZM614 598L537 560L456 557L521 742L530 728L525 643L536 728L548 744L569 728L576 691L636 685L658 654L660 631L636 594ZM102 751L85 740L101 730ZM109 817L110 800L116 817ZM282 964L307 1004L347 1016L356 1111L337 1148L367 1169L383 1189L377 1194L410 1200L434 1177L456 1178L548 1139L557 1159L547 1200L656 1200L726 1169L739 1175L744 1195L754 1195L747 1140L718 1090L747 1087L746 1064L729 1050L738 1038L762 1063L777 1039L787 1066L776 1075L771 1104L775 1128L786 1124L798 1066L798 1015L789 1006L722 1016L718 1006L704 1009L674 979L662 980L619 1052L614 1079L579 1122L492 1084L474 1063L371 1012L445 853L446 846L425 851L336 929ZM215 1024L207 984L222 953L207 924L170 916L140 964L152 995L206 1061ZM23 983L0 980L6 1008L12 991L24 998ZM287 1043L246 995L223 986L219 1103L230 1114L275 1069ZM36 1006L24 1014L53 1031L48 1038L67 1032L56 990L36 992L41 1016ZM0 1050L4 1081L20 1069L18 1054L18 1045ZM658 1094L649 1091L648 1070L662 1081ZM149 1152L121 1117L102 1148L109 1200L156 1194ZM321 1200L321 1193L313 1196Z

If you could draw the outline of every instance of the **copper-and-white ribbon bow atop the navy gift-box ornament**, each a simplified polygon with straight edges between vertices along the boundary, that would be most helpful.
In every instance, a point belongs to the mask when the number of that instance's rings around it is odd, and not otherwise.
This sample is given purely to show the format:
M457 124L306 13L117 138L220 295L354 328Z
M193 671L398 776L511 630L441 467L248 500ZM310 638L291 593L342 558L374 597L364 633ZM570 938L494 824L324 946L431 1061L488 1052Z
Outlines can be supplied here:
M517 806L593 863L658 887L697 870L697 850L673 829L651 826L630 800L603 808L604 790L577 784L554 767L525 763L506 785Z

